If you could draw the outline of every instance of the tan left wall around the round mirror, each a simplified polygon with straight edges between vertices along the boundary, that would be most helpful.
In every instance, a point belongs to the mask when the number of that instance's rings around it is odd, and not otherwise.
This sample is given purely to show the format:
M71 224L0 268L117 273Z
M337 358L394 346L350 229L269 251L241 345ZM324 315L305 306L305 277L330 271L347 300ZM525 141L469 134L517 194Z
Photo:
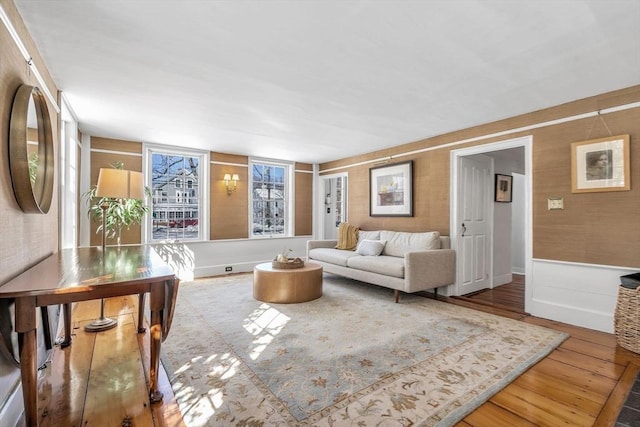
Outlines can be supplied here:
M58 90L13 2L0 0L0 4L33 57L33 62L47 82L49 91L55 96ZM47 214L23 213L13 195L8 158L9 121L13 98L21 84L40 86L29 73L22 54L5 26L0 25L0 285L58 251L58 192L54 191L51 208ZM49 101L47 107L51 116L54 157L57 158L60 148L58 115ZM59 165L56 165L54 174L55 189L58 186L58 167ZM1 310L0 329L11 329L11 322L9 314ZM9 393L14 390L19 379L18 369L0 355L0 413L4 409L2 405L7 402Z

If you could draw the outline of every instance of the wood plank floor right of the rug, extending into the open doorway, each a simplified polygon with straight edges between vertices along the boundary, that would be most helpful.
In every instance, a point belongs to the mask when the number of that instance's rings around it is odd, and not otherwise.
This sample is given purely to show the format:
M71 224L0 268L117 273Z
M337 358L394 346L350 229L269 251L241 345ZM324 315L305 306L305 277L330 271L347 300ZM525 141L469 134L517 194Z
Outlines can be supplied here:
M640 355L618 347L614 335L527 315L523 276L514 275L513 283L507 285L447 300L570 335L458 426L615 424L640 371Z

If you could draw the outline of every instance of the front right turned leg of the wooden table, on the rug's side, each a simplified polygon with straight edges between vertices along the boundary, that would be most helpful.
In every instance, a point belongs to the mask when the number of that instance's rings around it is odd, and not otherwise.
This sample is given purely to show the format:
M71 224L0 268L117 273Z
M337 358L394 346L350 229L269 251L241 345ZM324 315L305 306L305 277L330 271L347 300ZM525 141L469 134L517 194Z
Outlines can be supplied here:
M165 305L164 282L151 285L149 308L151 309L151 363L149 364L149 400L151 403L162 402L163 394L158 390L158 371L160 370L160 345L162 343L162 312Z

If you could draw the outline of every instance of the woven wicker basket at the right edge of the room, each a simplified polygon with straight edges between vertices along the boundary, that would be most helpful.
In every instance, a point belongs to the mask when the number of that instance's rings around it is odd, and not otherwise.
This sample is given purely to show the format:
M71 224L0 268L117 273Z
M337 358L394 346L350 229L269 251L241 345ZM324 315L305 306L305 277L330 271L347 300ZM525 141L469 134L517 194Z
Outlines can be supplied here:
M615 333L620 347L640 353L640 287L618 287Z

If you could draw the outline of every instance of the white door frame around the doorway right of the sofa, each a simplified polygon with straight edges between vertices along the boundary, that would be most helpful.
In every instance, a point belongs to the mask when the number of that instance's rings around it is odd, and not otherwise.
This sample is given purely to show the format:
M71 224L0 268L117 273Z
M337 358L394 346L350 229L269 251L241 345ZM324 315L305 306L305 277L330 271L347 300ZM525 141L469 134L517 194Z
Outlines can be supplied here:
M473 147L460 148L458 150L451 150L450 152L450 189L449 189L449 201L450 201L450 212L449 215L450 223L449 223L449 235L451 236L451 248L456 251L457 256L459 257L460 251L458 250L458 241L460 237L460 227L458 224L461 223L461 219L458 218L458 173L459 173L459 161L461 157L470 156L473 154L488 154L493 151L506 150L509 148L517 148L524 147L524 165L525 165L525 174L524 174L524 187L525 187L525 201L524 201L524 211L525 211L525 311L529 312L529 307L531 306L532 299L532 289L531 286L528 286L530 283L533 283L533 179L532 179L532 145L533 145L533 137L531 135L507 139L504 141L492 142L487 144L476 145ZM491 213L493 209L490 209ZM489 218L490 221L493 222L493 217ZM493 233L493 231L492 231ZM493 235L490 236L491 244L490 247L493 251ZM493 262L491 266L491 275L493 275ZM458 275L456 275L458 276ZM493 277L491 277L491 281L493 281ZM456 282L454 286L450 287L449 290L450 295L460 295L460 284L459 277L456 277Z

